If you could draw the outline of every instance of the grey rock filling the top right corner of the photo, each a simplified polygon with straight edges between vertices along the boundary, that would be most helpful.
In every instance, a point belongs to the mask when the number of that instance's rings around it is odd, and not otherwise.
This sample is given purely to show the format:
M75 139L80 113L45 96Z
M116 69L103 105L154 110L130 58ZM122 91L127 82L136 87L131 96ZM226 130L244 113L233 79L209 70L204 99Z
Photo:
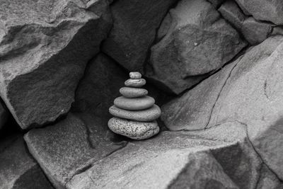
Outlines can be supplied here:
M236 0L243 10L260 21L283 24L283 1L281 0Z

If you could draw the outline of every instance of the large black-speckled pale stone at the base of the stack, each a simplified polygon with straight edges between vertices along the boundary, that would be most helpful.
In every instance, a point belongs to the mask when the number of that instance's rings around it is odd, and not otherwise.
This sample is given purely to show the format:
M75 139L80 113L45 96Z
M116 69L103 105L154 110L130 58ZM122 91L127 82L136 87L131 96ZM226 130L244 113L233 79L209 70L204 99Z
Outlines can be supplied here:
M112 132L131 139L148 139L159 132L156 121L137 122L121 118L111 118L108 127Z

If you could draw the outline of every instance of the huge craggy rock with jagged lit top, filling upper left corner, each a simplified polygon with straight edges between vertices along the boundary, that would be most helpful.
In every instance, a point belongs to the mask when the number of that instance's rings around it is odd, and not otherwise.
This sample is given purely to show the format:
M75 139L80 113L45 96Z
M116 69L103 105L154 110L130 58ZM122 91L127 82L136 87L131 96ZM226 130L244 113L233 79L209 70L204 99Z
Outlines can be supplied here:
M110 30L108 1L0 1L0 94L23 129L66 114Z

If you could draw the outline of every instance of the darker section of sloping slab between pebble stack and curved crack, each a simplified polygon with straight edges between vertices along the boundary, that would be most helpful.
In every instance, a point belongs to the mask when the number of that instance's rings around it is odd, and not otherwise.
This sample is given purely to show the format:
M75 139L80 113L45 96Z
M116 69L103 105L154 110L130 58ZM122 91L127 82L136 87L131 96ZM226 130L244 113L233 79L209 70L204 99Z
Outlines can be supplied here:
M170 130L204 129L213 105L236 62L161 107L161 120Z

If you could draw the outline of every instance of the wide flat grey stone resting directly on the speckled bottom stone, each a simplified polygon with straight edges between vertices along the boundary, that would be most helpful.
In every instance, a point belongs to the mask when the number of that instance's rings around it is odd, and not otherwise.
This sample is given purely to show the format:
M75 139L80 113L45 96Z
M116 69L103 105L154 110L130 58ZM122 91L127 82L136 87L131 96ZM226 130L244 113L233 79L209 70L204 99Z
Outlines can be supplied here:
M121 108L117 108L115 105L112 105L109 108L109 112L110 114L118 118L124 118L127 120L135 120L141 122L156 120L161 115L161 110L158 107L158 105L153 105L151 108L146 110L137 110L137 111L123 110Z

